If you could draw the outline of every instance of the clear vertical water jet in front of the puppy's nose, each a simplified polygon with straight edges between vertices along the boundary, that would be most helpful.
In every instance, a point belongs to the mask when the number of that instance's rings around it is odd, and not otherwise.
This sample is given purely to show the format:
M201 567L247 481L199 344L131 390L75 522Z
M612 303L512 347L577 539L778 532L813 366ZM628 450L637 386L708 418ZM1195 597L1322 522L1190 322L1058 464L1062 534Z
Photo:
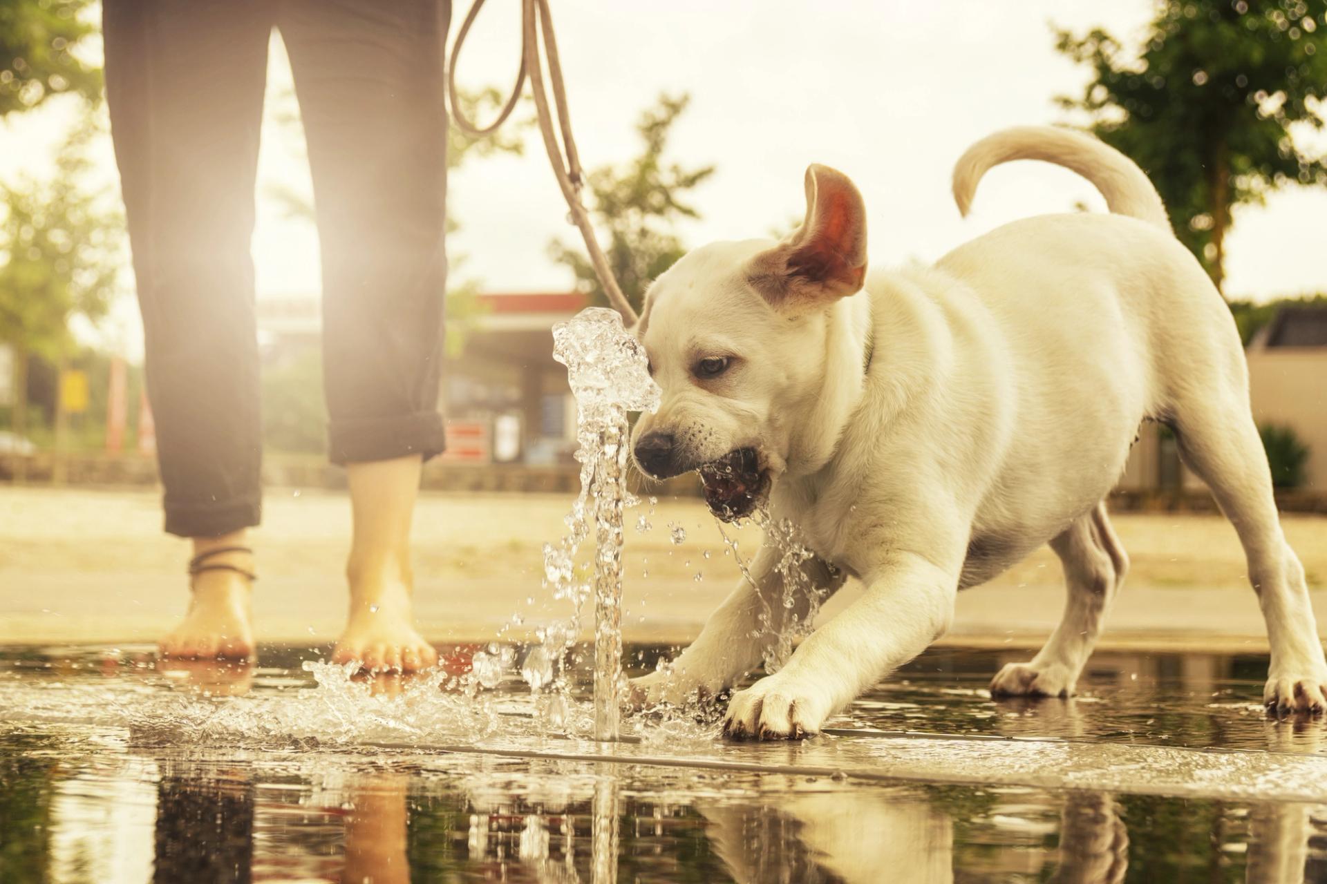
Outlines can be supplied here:
M549 660L561 660L580 632L581 604L593 591L594 738L616 740L624 688L622 510L634 502L625 481L626 414L657 408L660 388L650 378L644 347L622 327L614 310L588 307L555 325L553 359L567 366L576 396L581 490L565 520L568 534L557 546L544 546L544 588L553 598L571 600L575 614L571 623L540 637ZM576 553L589 537L591 520L593 578L576 567ZM565 672L555 669L551 683L565 697ZM532 688L535 680L527 677Z

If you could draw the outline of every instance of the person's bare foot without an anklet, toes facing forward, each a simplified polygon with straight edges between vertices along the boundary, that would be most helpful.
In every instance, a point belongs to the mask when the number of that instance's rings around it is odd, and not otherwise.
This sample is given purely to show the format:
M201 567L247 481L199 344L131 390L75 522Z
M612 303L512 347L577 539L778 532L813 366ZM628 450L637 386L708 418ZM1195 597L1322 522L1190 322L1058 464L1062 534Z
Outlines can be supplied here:
M352 588L350 619L332 661L358 663L369 672L415 672L438 663L438 652L414 628L410 591L389 583Z

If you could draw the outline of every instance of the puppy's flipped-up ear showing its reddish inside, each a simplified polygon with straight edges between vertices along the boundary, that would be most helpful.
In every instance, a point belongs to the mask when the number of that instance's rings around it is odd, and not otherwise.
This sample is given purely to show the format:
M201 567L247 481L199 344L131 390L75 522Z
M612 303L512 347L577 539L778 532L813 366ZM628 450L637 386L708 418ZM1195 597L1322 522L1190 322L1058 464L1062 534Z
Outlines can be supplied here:
M775 307L813 306L861 290L867 277L867 205L828 166L807 168L807 217L788 239L758 254L751 286Z

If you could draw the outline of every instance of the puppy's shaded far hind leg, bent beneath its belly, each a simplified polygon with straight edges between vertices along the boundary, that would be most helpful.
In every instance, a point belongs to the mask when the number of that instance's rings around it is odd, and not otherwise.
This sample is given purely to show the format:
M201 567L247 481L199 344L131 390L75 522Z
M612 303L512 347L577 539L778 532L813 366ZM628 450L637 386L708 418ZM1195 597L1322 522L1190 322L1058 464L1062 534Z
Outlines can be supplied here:
M1129 569L1129 559L1097 504L1051 541L1060 557L1068 595L1064 616L1031 663L1010 663L991 680L991 694L1067 697L1101 635L1107 611Z

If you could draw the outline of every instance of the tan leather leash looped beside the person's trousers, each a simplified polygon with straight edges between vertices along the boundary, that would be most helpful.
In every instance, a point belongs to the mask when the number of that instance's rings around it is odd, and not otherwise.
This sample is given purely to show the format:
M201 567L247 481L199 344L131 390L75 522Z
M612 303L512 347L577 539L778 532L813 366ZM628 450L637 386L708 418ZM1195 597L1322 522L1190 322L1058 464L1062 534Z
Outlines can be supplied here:
M608 258L604 257L604 252L598 248L598 240L594 239L594 228L591 225L589 213L580 200L584 178L580 155L576 152L576 140L572 138L572 121L567 110L567 89L563 85L563 66L557 58L557 41L553 38L553 20L548 12L548 0L520 0L520 68L516 70L516 85L512 86L511 97L507 98L498 118L480 129L464 115L460 102L456 101L456 62L460 60L460 48L470 33L470 25L475 23L475 17L483 5L484 0L474 0L474 5L470 7L466 20L460 23L456 42L451 48L451 61L447 69L447 97L451 103L451 118L456 121L456 126L462 131L474 138L483 138L496 131L511 117L516 102L520 101L525 78L529 78L531 91L535 98L535 113L539 117L539 131L544 137L548 162L553 167L553 175L563 190L563 196L567 199L572 220L580 229L581 239L585 240L585 249L589 252L591 264L594 266L594 276L598 277L600 285L604 286L608 302L622 314L624 323L632 326L637 319L636 310L632 309L626 296L622 294L622 289L617 285L617 280L613 278L613 272L608 266ZM544 72L539 58L540 34L543 34L544 50L548 53L548 78L553 87L553 102L557 105L557 127L561 130L561 144L557 143L557 135L553 133L553 115L548 109L548 94L544 89ZM563 155L564 148L565 156Z

